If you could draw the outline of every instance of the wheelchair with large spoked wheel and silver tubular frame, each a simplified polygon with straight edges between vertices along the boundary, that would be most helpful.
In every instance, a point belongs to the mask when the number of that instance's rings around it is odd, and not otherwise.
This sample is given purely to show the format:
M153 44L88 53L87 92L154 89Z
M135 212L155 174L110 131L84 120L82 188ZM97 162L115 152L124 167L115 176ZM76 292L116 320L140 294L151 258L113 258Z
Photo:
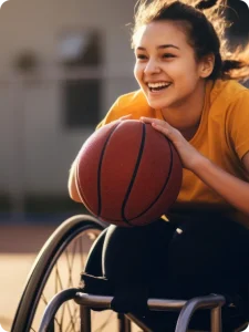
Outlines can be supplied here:
M114 313L111 295L82 291L80 274L87 252L106 227L95 217L79 215L65 220L51 235L28 276L11 332L157 332L132 313ZM222 294L190 300L152 298L147 305L152 311L179 312L175 332L190 331L189 322L197 310L210 311L210 332L222 330L221 308L226 305ZM106 310L97 312L91 308ZM248 321L240 322L234 331L249 331L249 312Z

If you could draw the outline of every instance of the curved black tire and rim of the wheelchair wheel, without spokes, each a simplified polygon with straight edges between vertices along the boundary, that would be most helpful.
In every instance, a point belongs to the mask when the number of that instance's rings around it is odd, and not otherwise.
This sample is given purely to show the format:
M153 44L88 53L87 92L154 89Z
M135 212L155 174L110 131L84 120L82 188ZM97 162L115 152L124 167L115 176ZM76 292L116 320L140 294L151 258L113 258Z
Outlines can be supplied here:
M66 219L48 239L39 252L19 302L11 332L29 332L48 278L73 239L87 230L101 231L106 225L87 215ZM80 281L80 280L79 280Z

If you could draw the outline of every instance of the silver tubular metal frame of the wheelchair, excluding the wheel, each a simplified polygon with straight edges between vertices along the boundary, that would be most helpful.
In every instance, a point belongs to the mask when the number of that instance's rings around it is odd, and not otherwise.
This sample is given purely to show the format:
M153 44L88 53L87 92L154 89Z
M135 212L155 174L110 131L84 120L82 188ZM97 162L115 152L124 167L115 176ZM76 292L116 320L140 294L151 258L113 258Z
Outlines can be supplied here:
M106 308L111 309L112 297L101 297L79 292L79 289L69 289L56 294L44 312L41 326L39 332L53 331L53 318L65 301L74 300L81 308L81 332L91 332L91 320L90 310L91 308ZM183 300L162 300L162 299L148 299L147 304L151 310L159 311L180 311L179 318L177 320L177 325L175 332L186 332L188 330L188 324L196 310L198 309L210 309L211 310L211 332L221 331L221 307L225 304L226 300L222 295L209 295L194 298L189 301ZM133 314L127 314L132 321L134 321L139 328L145 332L153 332L143 322L141 322ZM124 331L128 332L128 331Z

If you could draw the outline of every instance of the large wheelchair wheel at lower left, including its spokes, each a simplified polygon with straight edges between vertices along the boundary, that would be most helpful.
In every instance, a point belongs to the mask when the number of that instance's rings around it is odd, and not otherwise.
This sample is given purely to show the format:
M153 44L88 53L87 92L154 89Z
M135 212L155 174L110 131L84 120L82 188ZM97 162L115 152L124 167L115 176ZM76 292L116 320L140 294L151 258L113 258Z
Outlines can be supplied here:
M28 277L11 332L38 331L51 298L61 290L79 287L87 251L104 228L94 217L80 215L65 220L51 235ZM105 312L101 321L97 318L95 331L103 331L110 314L112 312ZM66 302L55 317L55 331L79 331L79 305L74 301ZM94 319L92 321L94 324Z

